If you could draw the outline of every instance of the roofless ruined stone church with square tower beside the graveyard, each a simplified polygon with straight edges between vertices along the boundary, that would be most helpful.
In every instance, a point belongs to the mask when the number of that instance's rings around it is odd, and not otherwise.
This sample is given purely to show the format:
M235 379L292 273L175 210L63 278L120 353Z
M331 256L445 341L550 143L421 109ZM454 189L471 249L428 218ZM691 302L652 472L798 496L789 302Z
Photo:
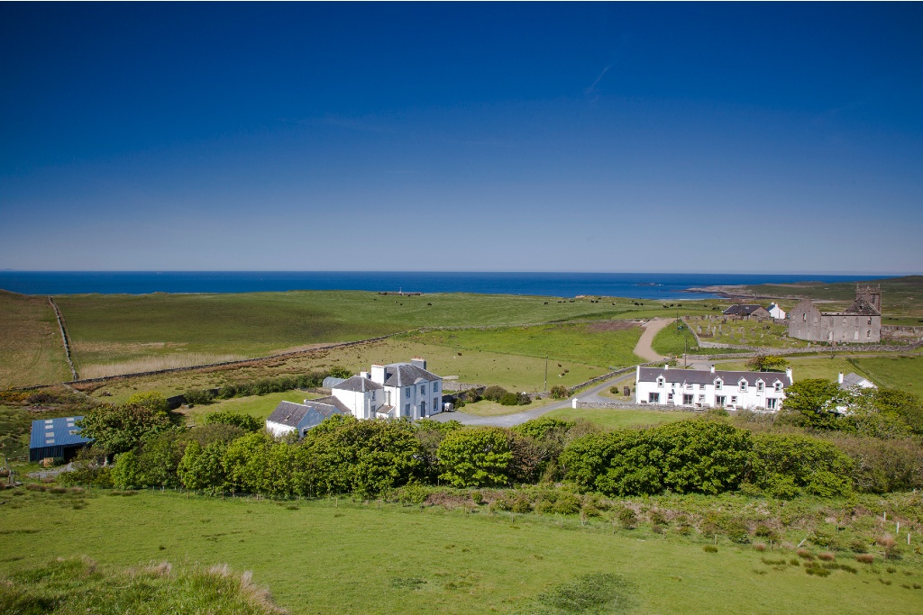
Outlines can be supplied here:
M881 341L881 286L856 285L856 301L843 312L821 312L804 299L788 313L788 337L814 342L865 344Z

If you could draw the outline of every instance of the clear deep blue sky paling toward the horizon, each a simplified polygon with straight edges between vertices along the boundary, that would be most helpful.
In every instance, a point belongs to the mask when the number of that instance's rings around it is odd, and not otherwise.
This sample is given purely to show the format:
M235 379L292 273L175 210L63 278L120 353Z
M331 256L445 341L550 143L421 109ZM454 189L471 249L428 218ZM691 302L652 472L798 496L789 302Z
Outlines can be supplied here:
M0 268L923 271L923 5L0 5Z

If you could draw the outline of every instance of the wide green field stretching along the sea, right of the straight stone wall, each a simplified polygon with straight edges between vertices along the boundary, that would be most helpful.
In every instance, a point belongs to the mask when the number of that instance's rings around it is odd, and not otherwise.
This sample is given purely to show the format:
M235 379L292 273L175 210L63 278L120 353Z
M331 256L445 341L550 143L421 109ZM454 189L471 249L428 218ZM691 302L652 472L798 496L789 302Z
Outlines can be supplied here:
M91 376L264 356L419 327L631 319L665 310L659 303L635 305L628 299L395 297L361 291L92 294L62 295L56 301L66 316L78 372ZM710 310L702 302L683 303L684 312Z

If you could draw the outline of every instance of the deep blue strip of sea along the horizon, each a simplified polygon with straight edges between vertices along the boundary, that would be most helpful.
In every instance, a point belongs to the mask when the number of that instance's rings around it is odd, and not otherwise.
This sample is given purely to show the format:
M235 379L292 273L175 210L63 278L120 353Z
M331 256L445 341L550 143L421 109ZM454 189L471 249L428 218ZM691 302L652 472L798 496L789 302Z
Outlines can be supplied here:
M432 271L0 271L0 289L29 295L147 294L151 292L264 292L373 290L472 292L575 297L597 295L654 301L710 299L687 290L732 284L848 282L884 276L689 274L689 273L496 273Z

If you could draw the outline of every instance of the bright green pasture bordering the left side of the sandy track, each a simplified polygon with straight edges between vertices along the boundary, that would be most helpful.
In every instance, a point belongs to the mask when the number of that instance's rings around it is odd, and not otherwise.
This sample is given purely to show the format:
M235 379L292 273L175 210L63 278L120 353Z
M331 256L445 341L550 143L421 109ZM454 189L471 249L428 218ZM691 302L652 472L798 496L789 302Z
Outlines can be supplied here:
M549 357L554 360L548 368L550 382L552 377L568 369L563 364L558 365L558 361L577 361L599 367L624 367L641 361L632 352L641 333L641 326L634 323L603 321L427 331L409 338L454 350L488 350L521 357Z

